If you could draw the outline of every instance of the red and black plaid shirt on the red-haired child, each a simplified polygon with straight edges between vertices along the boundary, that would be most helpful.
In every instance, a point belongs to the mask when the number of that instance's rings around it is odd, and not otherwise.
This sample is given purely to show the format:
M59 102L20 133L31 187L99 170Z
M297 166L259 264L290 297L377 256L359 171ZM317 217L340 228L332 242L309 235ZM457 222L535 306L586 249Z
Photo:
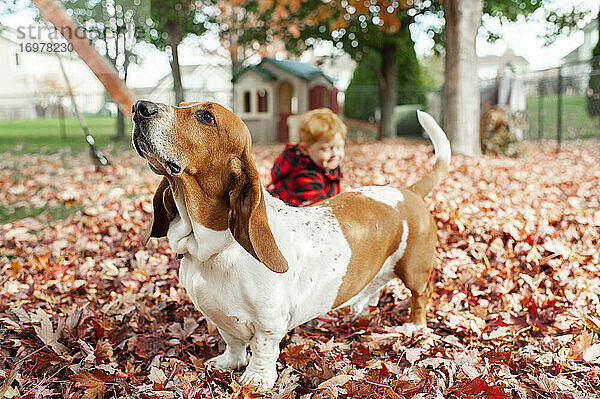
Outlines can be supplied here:
M268 190L288 205L311 205L339 194L341 178L339 166L323 170L292 143L275 160Z

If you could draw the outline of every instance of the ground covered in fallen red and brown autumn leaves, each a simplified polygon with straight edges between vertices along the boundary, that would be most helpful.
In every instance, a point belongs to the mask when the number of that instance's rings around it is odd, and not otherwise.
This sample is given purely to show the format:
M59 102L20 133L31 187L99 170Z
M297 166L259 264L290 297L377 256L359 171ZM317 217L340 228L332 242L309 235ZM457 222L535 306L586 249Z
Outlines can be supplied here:
M255 146L263 182L281 146ZM428 201L439 256L429 329L391 282L357 318L331 312L288 333L274 398L590 398L600 392L600 144L521 159L456 156ZM165 239L140 245L159 178L133 151L0 155L0 209L52 211L0 225L0 398L258 397L177 281ZM345 188L405 186L425 143L348 144ZM38 212L39 213L39 212ZM68 214L67 212L66 214Z

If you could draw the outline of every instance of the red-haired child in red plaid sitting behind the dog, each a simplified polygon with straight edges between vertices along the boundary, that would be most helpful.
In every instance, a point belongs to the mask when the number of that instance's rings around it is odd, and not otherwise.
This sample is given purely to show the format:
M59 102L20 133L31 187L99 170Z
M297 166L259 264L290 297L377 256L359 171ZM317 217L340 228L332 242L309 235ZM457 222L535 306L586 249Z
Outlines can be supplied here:
M300 117L299 144L287 144L271 169L269 192L288 205L305 206L340 192L346 125L328 108Z

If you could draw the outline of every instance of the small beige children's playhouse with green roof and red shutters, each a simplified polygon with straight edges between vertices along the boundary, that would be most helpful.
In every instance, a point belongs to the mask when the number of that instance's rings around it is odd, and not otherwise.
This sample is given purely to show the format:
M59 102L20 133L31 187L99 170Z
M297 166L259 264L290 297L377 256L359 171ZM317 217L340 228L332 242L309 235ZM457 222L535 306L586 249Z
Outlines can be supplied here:
M321 107L339 113L333 78L312 64L265 57L231 81L233 110L248 125L255 143L288 141L291 115Z

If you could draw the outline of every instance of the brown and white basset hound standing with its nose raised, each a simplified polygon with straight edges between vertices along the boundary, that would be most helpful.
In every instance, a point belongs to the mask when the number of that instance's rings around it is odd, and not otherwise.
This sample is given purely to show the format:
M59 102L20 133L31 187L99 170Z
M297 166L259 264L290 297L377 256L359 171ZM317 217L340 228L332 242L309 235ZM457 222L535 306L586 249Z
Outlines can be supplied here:
M437 235L423 198L450 163L446 135L429 114L418 119L437 160L420 181L294 208L263 188L250 132L226 108L140 100L132 112L133 146L163 176L143 243L167 236L181 259L188 296L227 344L209 364L247 366L241 383L269 389L288 330L332 309L377 305L395 277L412 293L411 322L425 325Z

